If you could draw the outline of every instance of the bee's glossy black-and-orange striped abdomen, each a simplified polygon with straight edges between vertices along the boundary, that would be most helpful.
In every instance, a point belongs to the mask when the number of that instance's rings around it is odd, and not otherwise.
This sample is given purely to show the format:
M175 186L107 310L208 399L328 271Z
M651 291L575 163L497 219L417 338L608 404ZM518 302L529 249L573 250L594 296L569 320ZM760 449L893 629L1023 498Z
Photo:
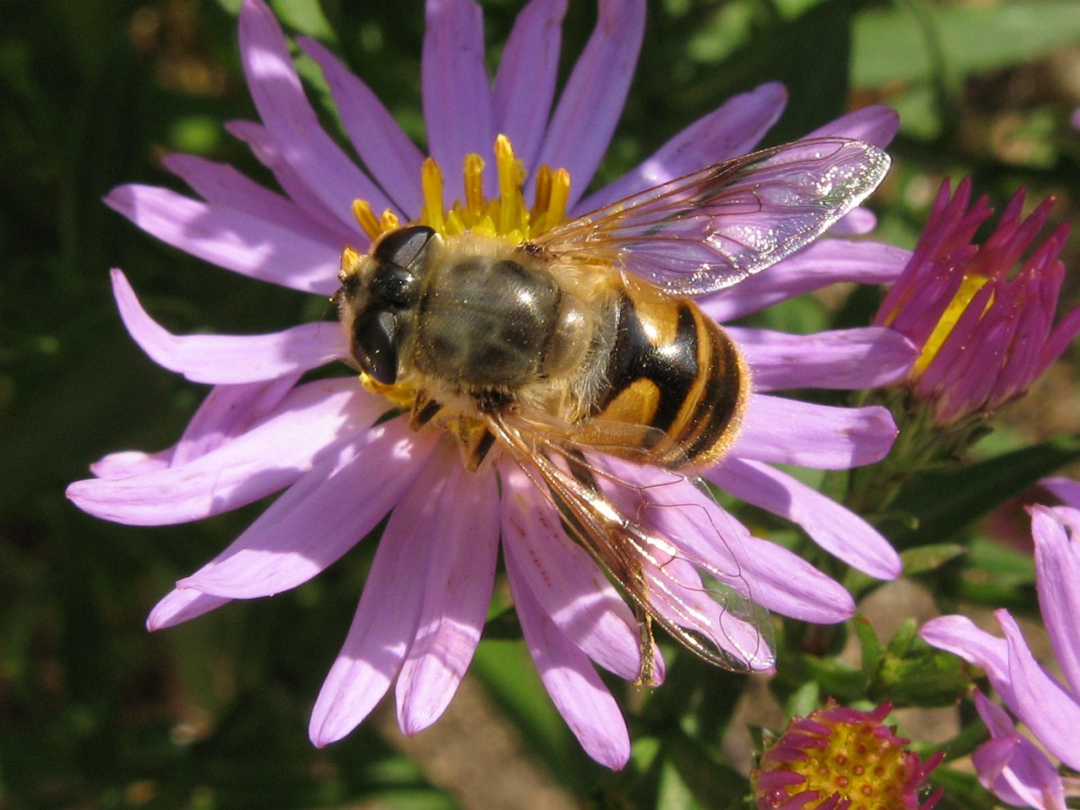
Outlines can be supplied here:
M656 429L627 456L673 469L702 465L734 440L748 387L734 343L693 303L623 294L594 416Z

